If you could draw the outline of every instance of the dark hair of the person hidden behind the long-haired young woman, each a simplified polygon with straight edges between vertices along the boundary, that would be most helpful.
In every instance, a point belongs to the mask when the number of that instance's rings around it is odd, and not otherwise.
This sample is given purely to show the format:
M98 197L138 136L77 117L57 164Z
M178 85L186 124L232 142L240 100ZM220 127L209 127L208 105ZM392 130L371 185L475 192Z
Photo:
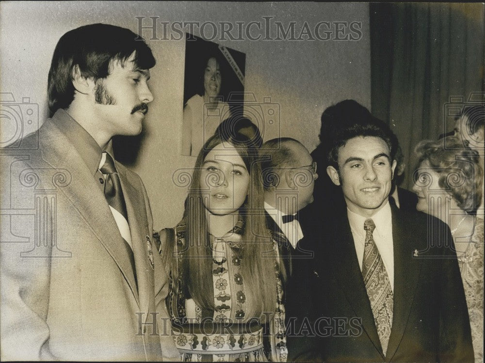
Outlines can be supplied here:
M246 131L244 129L250 130ZM247 137L250 143L249 147L260 148L263 144L258 126L240 114L234 114L226 118L217 126L214 134L219 134L222 139L232 138L239 142L242 142Z

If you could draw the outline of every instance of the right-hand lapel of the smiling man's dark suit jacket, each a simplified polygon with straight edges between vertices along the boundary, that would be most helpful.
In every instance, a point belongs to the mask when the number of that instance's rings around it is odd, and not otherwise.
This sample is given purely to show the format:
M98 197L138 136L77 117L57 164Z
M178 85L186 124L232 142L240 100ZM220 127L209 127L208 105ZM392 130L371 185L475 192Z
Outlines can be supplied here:
M426 243L425 240L418 240L409 233L409 228L413 223L407 220L407 213L396 207L391 207L391 212L394 245L394 307L392 329L386 354L388 361L392 359L404 335L417 290L416 286L419 282L422 259L413 258L413 251L414 249L424 250ZM409 243L410 239L416 245Z

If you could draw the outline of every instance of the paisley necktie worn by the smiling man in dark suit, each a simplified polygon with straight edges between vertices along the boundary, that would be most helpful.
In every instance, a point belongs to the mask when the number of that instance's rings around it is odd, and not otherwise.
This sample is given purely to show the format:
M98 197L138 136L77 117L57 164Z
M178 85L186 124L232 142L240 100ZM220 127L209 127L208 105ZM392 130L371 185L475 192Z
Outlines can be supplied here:
M386 267L377 250L374 237L372 237L374 229L374 221L370 218L367 219L364 222L366 236L364 259L362 261L362 276L364 277L367 295L371 301L372 314L374 315L382 351L386 355L392 327L392 304L394 298Z

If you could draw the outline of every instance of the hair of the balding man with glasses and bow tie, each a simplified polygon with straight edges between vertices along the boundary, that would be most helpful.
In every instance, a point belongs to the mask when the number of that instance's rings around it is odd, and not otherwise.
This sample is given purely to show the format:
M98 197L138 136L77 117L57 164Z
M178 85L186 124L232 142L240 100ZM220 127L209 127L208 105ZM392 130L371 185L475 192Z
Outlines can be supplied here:
M277 172L279 169L295 166L298 163L293 149L289 146L291 142L301 145L301 142L295 139L283 137L268 140L259 150L264 189L268 190L279 185L280 175Z

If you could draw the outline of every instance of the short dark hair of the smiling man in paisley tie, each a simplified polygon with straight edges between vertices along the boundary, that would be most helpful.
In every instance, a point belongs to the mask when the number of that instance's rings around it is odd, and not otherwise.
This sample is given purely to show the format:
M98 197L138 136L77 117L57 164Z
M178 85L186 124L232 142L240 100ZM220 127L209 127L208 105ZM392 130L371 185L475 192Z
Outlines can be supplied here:
M348 140L358 136L373 136L382 139L384 142L386 142L389 148L389 161L392 162L395 159L398 145L396 135L394 135L389 127L378 118L371 117L371 119L368 121L368 123L353 124L337 132L335 140L332 142L330 151L328 152L328 165L331 165L335 169L339 170L338 160L340 147L345 146Z

